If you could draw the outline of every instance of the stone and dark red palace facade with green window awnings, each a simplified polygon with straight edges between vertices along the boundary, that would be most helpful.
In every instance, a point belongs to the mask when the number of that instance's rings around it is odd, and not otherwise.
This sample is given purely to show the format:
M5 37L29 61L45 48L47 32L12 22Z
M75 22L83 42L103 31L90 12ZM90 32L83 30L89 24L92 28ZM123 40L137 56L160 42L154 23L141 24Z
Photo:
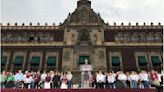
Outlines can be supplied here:
M60 25L1 26L1 69L80 71L87 59L93 70L161 70L163 26L109 25L79 0Z

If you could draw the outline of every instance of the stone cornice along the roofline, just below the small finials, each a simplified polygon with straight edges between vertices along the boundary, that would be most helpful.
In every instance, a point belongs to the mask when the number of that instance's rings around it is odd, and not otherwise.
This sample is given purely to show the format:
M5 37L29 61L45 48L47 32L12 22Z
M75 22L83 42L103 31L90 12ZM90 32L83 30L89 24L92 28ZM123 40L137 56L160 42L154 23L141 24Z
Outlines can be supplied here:
M84 26L84 24L76 24L76 23L71 23L69 26ZM91 23L91 24L85 24L85 26L101 26L97 23ZM2 30L59 30L61 29L61 26L54 26L54 25L2 25L1 26ZM157 25L107 25L106 29L163 29L163 25L158 23Z

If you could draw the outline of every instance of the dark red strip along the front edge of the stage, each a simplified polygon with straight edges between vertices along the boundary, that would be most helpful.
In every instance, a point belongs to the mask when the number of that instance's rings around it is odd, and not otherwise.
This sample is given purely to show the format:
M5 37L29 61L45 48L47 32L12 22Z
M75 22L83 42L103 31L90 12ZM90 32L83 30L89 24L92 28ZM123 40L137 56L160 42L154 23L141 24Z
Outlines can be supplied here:
M2 89L1 92L155 92L155 89Z

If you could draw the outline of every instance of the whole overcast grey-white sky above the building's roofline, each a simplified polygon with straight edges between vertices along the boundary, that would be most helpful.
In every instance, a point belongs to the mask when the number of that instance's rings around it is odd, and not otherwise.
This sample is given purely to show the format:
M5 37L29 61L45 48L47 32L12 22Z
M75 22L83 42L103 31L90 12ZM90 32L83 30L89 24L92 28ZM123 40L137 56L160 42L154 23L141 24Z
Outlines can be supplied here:
M59 24L76 8L78 0L1 0L1 22L36 25ZM92 8L105 22L164 23L164 0L91 0Z

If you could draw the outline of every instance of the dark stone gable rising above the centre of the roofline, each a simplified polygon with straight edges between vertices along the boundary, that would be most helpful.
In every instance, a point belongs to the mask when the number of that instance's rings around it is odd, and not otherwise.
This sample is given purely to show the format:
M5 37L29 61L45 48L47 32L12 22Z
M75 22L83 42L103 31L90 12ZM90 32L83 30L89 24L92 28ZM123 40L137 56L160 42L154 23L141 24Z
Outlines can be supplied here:
M77 3L75 11L68 15L65 23L67 24L103 24L99 13L95 13L91 8L91 2L80 0Z

